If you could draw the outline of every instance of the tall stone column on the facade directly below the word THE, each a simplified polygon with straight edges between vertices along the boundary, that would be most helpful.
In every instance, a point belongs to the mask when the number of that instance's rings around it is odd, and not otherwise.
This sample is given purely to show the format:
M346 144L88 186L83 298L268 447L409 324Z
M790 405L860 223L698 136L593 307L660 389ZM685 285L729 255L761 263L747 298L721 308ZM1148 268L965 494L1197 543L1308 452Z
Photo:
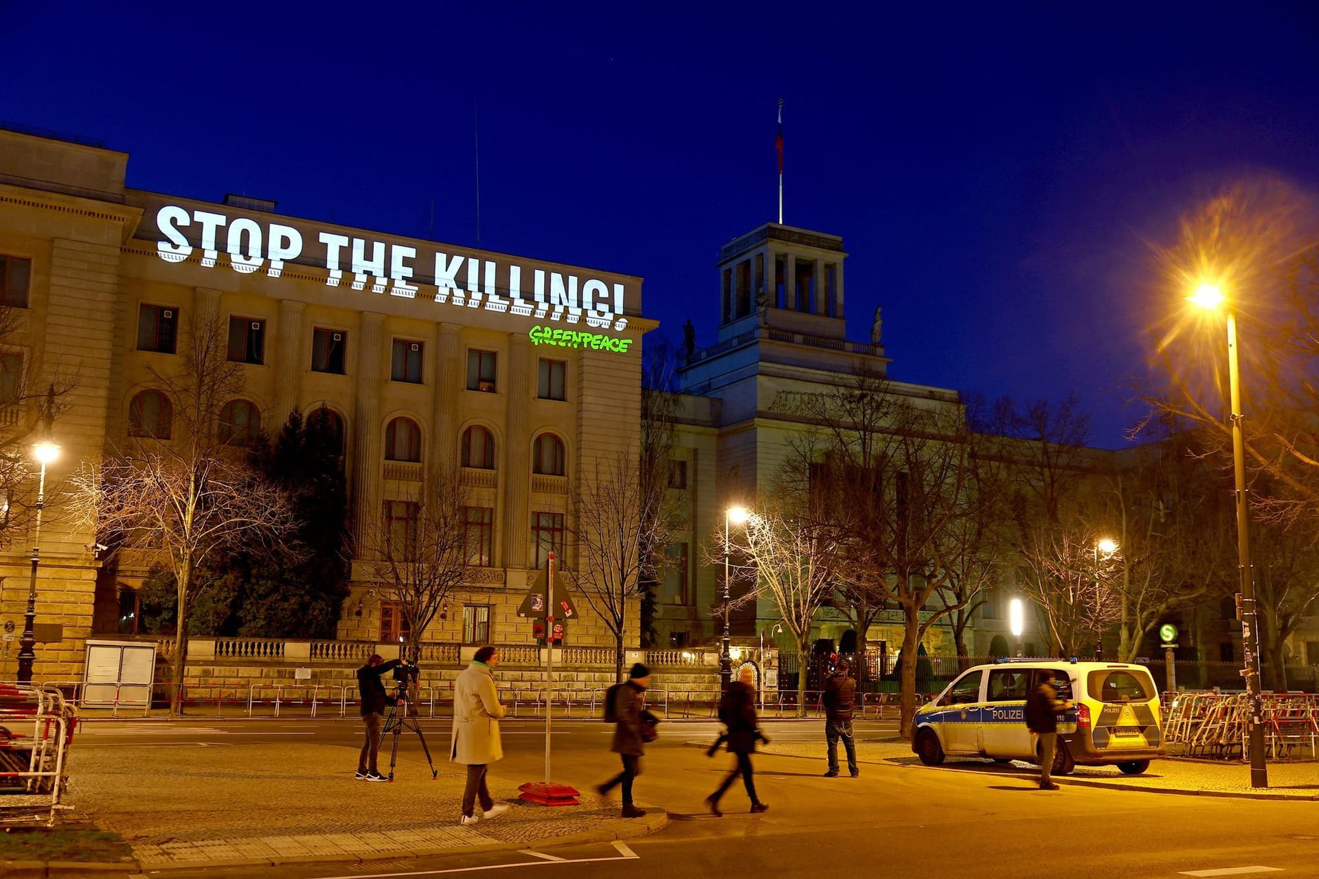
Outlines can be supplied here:
M360 556L375 556L371 532L380 523L380 468L384 431L380 423L380 345L384 315L361 314L357 329L357 393L353 406L352 522ZM351 341L351 337L350 337Z

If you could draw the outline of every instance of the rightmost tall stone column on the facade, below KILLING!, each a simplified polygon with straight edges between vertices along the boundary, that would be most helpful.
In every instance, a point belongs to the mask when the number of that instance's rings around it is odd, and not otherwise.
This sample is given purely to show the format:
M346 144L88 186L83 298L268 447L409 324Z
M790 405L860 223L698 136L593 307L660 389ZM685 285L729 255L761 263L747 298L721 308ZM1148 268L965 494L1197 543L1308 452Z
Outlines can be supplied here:
M532 353L526 336L509 333L508 368L504 370L508 387L504 418L504 477L501 493L504 567L526 567L529 511L532 489L532 434L526 410L532 403Z

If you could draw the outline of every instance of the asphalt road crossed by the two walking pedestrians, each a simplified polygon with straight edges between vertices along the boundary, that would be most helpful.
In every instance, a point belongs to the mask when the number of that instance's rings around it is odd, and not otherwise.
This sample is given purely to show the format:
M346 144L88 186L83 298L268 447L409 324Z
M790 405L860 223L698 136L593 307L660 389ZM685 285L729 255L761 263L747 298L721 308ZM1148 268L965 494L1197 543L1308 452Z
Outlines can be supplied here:
M422 729L435 759L448 739L446 718L425 720ZM772 737L820 741L820 721L770 722ZM747 813L741 785L724 799L724 817L704 810L702 800L731 766L720 754L708 759L689 741L715 735L711 722L673 722L648 750L637 780L637 799L670 813L669 826L627 845L592 845L431 858L348 867L324 865L255 871L212 871L223 876L330 878L392 875L512 874L520 879L637 879L673 876L1121 876L1319 875L1319 804L1265 803L1129 791L1064 787L1042 792L1033 776L977 771L983 764L863 764L861 778L824 779L819 762L758 755L757 787L770 804L765 814ZM609 730L598 721L554 721L553 778L587 787L612 775ZM893 723L859 725L857 735L885 737ZM352 745L353 721L211 721L88 723L77 747L115 747L145 741L174 747L235 747L288 741ZM410 741L409 741L410 739ZM386 749L388 749L386 739ZM542 721L504 726L505 759L492 771L505 779L543 776ZM419 752L405 734L401 749ZM351 768L351 767L348 767ZM557 859L550 859L557 858ZM1225 871L1233 872L1203 872ZM1249 871L1246 871L1249 870ZM171 872L185 876L186 874Z

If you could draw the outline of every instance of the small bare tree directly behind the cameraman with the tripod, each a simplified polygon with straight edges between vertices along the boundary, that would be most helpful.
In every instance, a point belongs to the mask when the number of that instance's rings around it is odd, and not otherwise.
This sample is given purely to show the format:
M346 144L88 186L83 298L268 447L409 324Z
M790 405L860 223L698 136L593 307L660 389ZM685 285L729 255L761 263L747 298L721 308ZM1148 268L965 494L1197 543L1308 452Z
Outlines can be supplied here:
M470 502L458 469L441 467L415 498L385 501L380 519L363 535L375 579L402 614L413 659L435 614L479 561L474 553L480 550L467 546Z

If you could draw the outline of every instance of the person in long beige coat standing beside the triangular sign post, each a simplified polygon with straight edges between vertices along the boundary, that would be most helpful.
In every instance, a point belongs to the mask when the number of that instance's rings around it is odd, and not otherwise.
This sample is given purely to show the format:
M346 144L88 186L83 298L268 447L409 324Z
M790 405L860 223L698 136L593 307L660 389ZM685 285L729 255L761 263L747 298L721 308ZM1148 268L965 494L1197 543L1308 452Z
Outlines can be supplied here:
M454 683L454 741L448 759L467 766L467 787L463 789L462 824L476 824L481 818L495 818L508 812L506 803L491 800L485 787L485 770L504 756L499 738L499 718L504 706L495 689L495 667L499 656L485 646L476 651L472 664ZM481 813L476 814L480 800Z

